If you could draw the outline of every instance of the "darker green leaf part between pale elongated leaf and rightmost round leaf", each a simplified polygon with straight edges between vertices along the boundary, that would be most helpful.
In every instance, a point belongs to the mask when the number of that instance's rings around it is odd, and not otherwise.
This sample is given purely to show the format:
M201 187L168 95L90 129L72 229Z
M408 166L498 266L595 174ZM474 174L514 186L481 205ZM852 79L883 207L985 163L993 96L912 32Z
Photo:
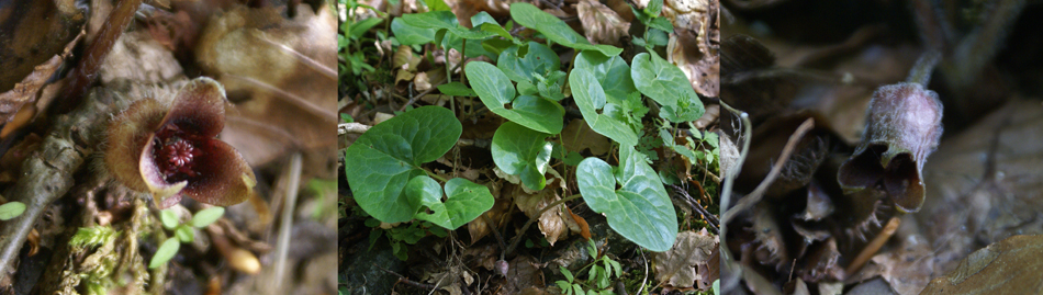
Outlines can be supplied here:
M638 89L630 79L630 66L623 57L607 57L598 52L582 52L575 58L576 69L587 69L605 90L605 95L625 100Z

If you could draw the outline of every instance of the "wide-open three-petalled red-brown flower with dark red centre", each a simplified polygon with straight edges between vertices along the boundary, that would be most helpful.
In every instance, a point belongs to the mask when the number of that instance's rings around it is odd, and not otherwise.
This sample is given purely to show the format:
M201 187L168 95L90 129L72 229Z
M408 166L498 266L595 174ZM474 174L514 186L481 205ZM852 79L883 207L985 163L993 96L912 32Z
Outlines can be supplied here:
M257 183L243 156L216 138L224 128L224 88L201 77L169 103L135 101L106 128L105 167L130 189L149 192L159 208L182 196L228 206Z

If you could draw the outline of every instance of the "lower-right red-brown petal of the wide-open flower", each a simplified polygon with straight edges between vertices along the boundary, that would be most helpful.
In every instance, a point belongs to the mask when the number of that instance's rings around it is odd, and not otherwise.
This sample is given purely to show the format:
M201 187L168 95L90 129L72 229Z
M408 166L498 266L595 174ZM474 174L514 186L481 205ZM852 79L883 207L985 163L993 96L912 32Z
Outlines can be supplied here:
M257 179L243 155L217 139L204 139L195 144L197 148L203 150L193 167L193 171L199 174L189 180L181 194L217 206L246 201L253 194Z

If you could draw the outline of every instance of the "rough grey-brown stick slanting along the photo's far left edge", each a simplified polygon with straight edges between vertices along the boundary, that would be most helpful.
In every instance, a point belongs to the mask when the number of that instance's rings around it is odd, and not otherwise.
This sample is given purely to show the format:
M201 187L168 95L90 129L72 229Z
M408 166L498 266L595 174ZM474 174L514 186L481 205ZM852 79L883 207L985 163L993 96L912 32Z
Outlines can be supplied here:
M3 195L25 204L25 212L0 223L0 281L13 272L11 268L25 237L36 219L52 202L72 188L72 173L83 164L98 146L100 133L89 126L102 126L112 113L115 94L96 89L74 112L57 117L41 147L22 161L18 182Z

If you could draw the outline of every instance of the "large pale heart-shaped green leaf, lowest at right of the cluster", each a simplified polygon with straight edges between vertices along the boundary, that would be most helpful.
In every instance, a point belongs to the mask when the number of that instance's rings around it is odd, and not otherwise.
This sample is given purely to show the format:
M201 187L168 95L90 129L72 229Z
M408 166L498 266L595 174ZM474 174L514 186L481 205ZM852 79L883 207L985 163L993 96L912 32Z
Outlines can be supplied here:
M604 213L608 226L652 251L666 251L677 236L677 217L662 181L633 148L621 149L619 175L608 163L586 158L576 168L576 183L586 204ZM620 189L615 190L616 184Z

